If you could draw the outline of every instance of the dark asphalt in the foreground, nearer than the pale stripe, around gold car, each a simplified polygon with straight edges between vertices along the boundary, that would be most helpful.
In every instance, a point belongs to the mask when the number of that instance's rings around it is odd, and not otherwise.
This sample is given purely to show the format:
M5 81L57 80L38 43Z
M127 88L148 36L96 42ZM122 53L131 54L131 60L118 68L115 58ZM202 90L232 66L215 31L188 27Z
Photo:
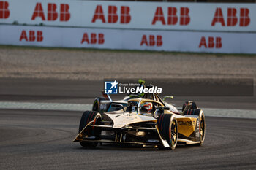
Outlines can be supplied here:
M72 142L81 112L0 110L1 169L255 169L256 121L206 117L203 146L176 150Z

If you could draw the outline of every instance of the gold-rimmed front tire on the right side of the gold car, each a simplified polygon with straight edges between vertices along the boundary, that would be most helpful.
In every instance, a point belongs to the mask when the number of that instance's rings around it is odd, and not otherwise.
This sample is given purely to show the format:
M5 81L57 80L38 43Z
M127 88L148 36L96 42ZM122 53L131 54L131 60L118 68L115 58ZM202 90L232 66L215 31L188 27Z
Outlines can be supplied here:
M162 114L157 118L157 126L162 138L170 145L170 149L174 150L178 142L178 124L176 117L172 114ZM162 147L159 147L162 149Z

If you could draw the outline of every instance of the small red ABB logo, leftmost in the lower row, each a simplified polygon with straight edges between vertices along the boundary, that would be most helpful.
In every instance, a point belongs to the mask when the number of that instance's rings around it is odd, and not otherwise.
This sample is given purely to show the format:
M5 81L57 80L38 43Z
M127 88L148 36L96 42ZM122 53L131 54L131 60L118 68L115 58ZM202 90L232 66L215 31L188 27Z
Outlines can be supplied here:
M26 31L23 30L20 34L20 42L25 39L26 42L34 42L34 41L37 41L37 42L42 42L42 40L44 39L43 36L42 36L42 31L37 31L37 35L35 34L36 31L29 31L29 39L28 39L28 36L26 34Z

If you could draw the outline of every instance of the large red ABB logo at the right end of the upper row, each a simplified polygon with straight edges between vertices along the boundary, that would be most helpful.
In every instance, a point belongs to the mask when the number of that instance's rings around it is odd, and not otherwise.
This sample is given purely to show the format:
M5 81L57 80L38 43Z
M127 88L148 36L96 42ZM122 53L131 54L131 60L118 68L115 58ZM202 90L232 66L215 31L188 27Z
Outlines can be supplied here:
M221 8L216 9L211 26L215 26L216 23L220 23L222 26L225 26L225 20ZM237 23L238 17L236 8L227 8L227 26L236 26ZM249 23L249 9L240 8L239 26L249 26Z

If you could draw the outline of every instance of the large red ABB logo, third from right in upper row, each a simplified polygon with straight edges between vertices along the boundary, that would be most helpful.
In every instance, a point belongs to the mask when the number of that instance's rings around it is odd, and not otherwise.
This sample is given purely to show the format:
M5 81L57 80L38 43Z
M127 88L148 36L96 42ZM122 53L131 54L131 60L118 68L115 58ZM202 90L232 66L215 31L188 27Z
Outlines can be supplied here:
M108 23L117 23L118 21L117 7L116 6L108 6ZM106 23L105 15L102 9L102 5L97 5L94 17L91 22L95 23L96 20L102 20L102 23ZM121 6L120 10L120 23L127 24L131 21L131 15L129 15L129 7Z

